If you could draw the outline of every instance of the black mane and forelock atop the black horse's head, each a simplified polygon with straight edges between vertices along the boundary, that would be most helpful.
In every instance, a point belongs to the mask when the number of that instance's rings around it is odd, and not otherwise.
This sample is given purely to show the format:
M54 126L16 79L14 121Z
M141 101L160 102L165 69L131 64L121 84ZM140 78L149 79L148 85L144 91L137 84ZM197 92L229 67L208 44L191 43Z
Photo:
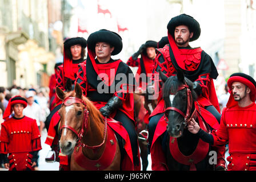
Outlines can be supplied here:
M193 90L193 82L186 77L185 77L185 81L187 85L189 85L193 99L197 99L197 94ZM179 85L182 85L182 84L184 83L179 81L177 76L171 76L167 78L167 80L165 81L165 84L163 85L163 98L166 98L166 97L169 98L170 93L172 94L177 93Z

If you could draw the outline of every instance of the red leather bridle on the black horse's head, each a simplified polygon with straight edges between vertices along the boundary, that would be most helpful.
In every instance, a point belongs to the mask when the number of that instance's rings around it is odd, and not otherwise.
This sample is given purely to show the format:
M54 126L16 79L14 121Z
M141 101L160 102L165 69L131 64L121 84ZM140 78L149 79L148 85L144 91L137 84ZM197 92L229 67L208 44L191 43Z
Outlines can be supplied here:
M186 127L187 123L190 122L192 118L194 118L195 113L196 113L196 109L194 109L193 113L190 115L190 110L193 107L193 98L192 98L191 90L189 89L189 85L183 84L183 85L179 86L178 90L182 90L182 89L185 89L185 88L187 89L187 112L186 112L186 115L185 115L185 113L183 113L181 110L179 110L176 107L167 107L165 109L165 115L164 115L166 123L168 123L168 118L166 117L166 112L168 110L174 110L177 113L181 114L184 118L184 121L185 121L184 122L185 127Z

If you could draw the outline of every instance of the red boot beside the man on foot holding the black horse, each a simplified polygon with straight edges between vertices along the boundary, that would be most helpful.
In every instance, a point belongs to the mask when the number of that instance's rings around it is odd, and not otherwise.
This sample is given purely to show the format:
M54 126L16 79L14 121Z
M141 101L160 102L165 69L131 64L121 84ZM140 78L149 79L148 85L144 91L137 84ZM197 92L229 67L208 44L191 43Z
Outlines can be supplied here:
M225 171L226 161L225 161L225 146L213 147L213 150L217 152L217 164L215 165L215 171Z

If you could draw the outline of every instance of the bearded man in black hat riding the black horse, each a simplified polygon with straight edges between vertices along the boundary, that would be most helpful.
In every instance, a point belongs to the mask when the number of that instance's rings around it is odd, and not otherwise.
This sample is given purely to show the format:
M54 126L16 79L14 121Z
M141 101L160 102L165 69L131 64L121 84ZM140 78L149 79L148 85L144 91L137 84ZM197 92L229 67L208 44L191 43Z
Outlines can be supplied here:
M211 127L216 129L221 120L218 98L215 92L213 79L217 78L218 72L215 68L211 57L200 47L192 48L189 42L197 40L201 34L201 28L197 20L192 16L181 14L175 16L167 24L169 44L163 48L157 49L155 57L155 68L153 71L153 82L160 82L159 71L162 71L167 77L174 76L177 70L183 71L185 77L194 82L194 90L198 95L197 102L201 107L202 115L206 121L211 121ZM155 129L158 121L163 119L164 101L161 90L150 90L148 86L147 93L158 94L158 104L149 118L149 147L152 146ZM215 124L217 123L217 124ZM218 153L220 154L220 153ZM222 149L221 155L218 156L217 166L225 166L223 155L225 148ZM152 154L151 154L152 155Z

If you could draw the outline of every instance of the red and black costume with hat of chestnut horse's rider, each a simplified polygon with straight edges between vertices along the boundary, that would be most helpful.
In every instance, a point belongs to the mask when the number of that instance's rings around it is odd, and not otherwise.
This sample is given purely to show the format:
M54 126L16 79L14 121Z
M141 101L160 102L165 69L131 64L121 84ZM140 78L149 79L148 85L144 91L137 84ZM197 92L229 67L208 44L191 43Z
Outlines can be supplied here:
M133 72L120 59L99 63L95 59L97 42L105 42L113 46L114 51L111 55L117 55L122 50L122 39L115 32L99 30L91 34L87 40L87 59L79 64L75 82L81 85L83 94L94 103L103 116L114 118L122 123L129 134L134 166L139 166L138 140L135 130L137 124L134 119ZM121 75L124 77L120 78Z

